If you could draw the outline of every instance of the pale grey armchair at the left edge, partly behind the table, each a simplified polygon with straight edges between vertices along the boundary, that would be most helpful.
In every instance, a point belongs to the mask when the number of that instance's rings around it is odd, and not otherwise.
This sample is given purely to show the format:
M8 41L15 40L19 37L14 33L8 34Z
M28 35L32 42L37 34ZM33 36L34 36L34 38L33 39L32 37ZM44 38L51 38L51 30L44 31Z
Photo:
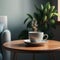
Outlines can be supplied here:
M0 16L0 54L2 60L9 60L10 52L2 48L4 42L11 41L11 33L7 28L7 16Z

